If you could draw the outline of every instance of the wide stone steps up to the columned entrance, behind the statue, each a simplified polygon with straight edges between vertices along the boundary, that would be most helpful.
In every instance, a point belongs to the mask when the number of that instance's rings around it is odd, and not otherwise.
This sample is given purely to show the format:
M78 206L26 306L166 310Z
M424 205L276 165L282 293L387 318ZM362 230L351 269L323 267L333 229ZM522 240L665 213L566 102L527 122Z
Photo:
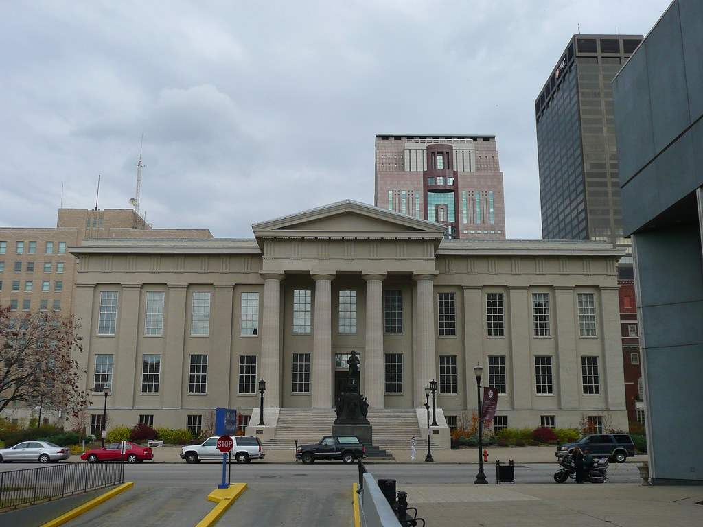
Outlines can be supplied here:
M415 448L422 452L427 448L427 431L420 429L415 410L368 410L366 416L373 427L373 444L380 449L407 453L410 456L410 438L415 436ZM276 435L264 442L270 450L292 450L295 441L299 445L317 443L322 436L332 433L332 424L337 418L334 410L311 410L309 408L281 408L278 413ZM434 447L435 449L439 447ZM373 448L367 448L367 456L378 459ZM380 457L382 457L382 451Z

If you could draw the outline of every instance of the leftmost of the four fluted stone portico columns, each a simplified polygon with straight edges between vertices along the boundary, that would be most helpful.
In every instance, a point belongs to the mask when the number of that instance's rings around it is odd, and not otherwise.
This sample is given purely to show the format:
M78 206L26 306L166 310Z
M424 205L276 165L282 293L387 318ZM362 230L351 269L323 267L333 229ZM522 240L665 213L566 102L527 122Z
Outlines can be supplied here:
M262 313L262 353L259 378L266 381L266 408L280 408L280 273L261 273L264 279L264 312Z

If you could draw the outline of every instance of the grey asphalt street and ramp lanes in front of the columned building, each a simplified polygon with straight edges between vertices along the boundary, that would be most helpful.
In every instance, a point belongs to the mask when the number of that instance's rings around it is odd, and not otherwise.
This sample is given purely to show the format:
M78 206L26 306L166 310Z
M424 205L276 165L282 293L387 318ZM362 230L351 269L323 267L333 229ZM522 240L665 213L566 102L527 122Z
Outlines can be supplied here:
M0 470L37 467L37 464L1 464ZM427 484L472 483L477 464L368 464L376 479L395 479L396 488ZM556 463L517 464L517 483L557 485ZM486 464L490 484L496 483L493 464ZM638 483L634 464L611 464L605 485ZM358 481L356 464L337 462L304 464L233 464L232 482L247 483L247 490L217 524L220 526L340 526L352 524L352 484ZM222 480L221 464L125 465L125 481L134 488L96 507L67 527L194 526L214 503L207 495ZM574 484L569 481L564 485ZM411 489L408 500L412 500Z

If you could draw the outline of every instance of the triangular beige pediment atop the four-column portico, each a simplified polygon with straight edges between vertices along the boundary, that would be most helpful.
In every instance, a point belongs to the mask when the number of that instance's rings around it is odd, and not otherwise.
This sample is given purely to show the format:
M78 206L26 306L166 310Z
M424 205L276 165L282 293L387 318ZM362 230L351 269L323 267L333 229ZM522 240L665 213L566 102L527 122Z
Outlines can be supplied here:
M444 227L347 200L254 223L258 238L408 238L441 240Z

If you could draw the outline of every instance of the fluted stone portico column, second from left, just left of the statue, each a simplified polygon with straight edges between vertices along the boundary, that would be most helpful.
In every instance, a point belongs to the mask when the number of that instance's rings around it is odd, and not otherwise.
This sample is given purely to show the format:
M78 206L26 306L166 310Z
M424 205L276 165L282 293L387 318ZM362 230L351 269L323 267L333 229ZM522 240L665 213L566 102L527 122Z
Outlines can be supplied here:
M312 275L315 313L312 345L311 405L332 408L332 280L333 274Z

